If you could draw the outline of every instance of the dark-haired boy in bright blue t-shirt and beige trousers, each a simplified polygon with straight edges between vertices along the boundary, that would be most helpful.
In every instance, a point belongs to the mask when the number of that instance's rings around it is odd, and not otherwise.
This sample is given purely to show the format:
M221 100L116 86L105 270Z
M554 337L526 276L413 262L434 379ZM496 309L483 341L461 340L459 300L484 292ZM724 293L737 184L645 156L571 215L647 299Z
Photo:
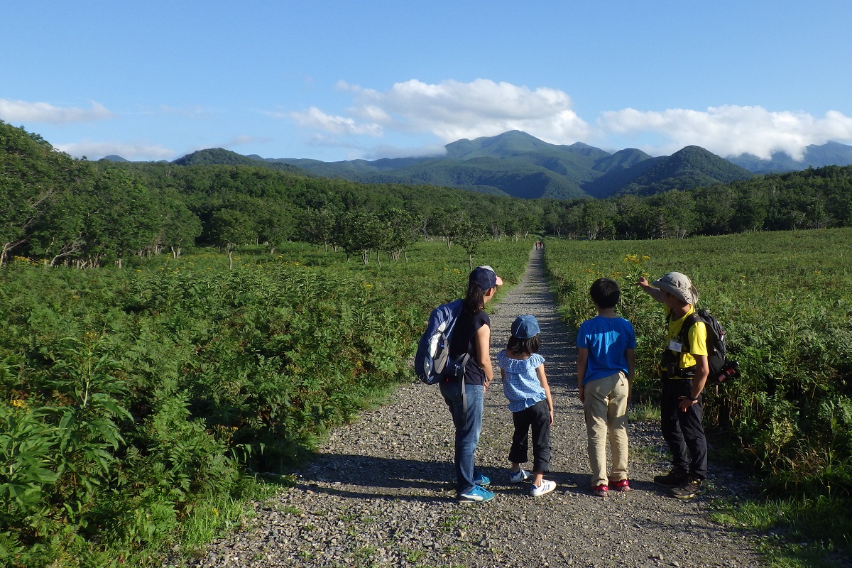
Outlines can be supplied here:
M577 332L577 382L589 437L591 491L605 497L610 488L630 491L627 404L633 382L636 334L615 313L621 290L610 278L598 278L589 290L597 316ZM607 473L607 439L613 468Z

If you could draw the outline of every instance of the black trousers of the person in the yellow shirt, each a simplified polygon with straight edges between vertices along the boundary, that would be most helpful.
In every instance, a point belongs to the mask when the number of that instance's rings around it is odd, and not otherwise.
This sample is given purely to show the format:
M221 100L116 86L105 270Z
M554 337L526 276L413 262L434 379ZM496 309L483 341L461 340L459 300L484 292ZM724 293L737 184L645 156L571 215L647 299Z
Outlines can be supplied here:
M660 429L671 450L674 468L688 472L695 478L707 477L707 439L701 418L704 403L698 402L686 411L680 409L679 398L692 396L692 379L670 379L663 377L663 393L660 396Z

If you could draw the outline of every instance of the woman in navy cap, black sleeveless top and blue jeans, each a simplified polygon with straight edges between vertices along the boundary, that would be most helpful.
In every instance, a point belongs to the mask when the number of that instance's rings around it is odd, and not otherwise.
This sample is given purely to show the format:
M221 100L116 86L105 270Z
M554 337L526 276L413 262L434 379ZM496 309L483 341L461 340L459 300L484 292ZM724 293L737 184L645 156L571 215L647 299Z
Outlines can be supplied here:
M485 305L494 297L503 280L492 267L476 267L468 278L468 292L462 313L452 330L450 355L460 359L469 355L462 376L447 375L440 382L440 393L450 409L456 427L456 497L459 502L486 502L494 498L485 489L491 483L475 470L474 453L482 428L482 404L485 391L494 379L491 364L491 319Z

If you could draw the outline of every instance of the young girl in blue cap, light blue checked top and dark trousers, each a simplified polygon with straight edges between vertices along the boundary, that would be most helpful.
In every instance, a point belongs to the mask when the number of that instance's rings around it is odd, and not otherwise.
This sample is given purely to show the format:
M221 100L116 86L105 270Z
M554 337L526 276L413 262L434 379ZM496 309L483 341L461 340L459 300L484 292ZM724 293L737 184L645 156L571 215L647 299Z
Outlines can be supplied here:
M527 462L527 434L533 427L533 486L530 495L542 496L556 489L556 483L544 479L550 471L550 426L553 425L553 399L544 375L544 357L538 354L541 330L533 316L519 316L512 323L509 345L497 354L503 392L509 399L515 434L509 450L509 483L521 483L531 473L521 469Z

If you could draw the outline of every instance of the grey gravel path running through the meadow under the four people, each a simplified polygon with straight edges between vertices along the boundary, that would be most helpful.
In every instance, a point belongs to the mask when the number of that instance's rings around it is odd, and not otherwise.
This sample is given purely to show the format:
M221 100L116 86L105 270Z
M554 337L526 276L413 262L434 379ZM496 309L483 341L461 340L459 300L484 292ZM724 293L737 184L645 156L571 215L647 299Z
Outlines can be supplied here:
M761 565L754 536L709 519L712 499L747 485L711 462L707 495L686 502L665 496L652 481L668 469L653 424L630 425L634 491L590 495L573 334L556 315L541 251L533 250L521 284L494 308L493 353L504 347L516 316L532 313L541 326L540 353L556 404L548 476L556 491L533 499L528 485L506 481L511 415L495 383L486 393L476 456L497 497L456 503L449 412L437 387L406 385L388 405L332 433L314 462L296 473L295 487L255 503L256 519L211 543L193 565Z

